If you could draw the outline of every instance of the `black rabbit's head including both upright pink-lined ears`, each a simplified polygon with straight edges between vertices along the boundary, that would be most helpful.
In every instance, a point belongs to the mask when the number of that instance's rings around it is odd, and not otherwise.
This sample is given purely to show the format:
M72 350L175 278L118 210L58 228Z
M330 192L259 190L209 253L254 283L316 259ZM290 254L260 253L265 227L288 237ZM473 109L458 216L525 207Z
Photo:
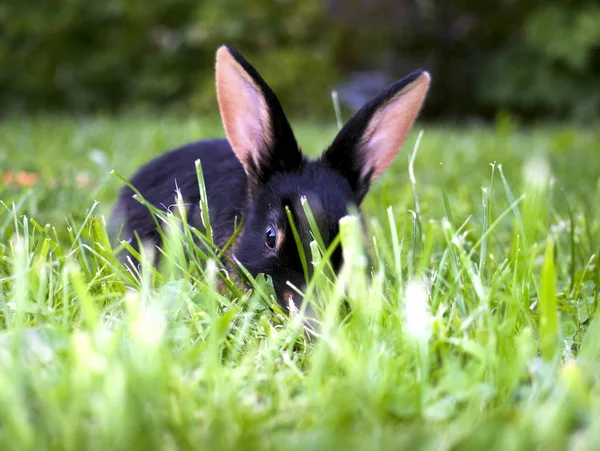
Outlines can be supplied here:
M221 118L248 178L248 205L234 256L253 276L271 276L284 308L300 307L301 297L292 288L302 290L306 284L299 249L310 260L314 239L302 199L308 201L324 244L329 245L348 207L360 205L371 182L399 152L429 80L427 72L417 71L389 86L313 160L302 155L277 97L258 72L234 49L224 46L217 51ZM331 263L335 270L342 264L339 246Z

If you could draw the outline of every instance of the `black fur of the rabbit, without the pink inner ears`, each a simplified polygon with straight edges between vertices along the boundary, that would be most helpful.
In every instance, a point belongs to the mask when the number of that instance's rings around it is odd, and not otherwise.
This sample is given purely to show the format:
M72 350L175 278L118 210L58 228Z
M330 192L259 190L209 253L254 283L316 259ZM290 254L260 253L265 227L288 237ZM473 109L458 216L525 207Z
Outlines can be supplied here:
M302 288L306 281L286 207L292 213L309 258L308 244L312 238L300 204L303 196L308 198L321 236L329 245L338 234L339 220L347 214L348 207L352 204L358 207L369 189L370 178L360 177L365 164L360 145L370 118L421 72L414 72L393 84L365 105L340 131L322 157L313 160L302 156L273 91L237 51L228 50L256 82L269 109L273 139L261 150L260 167L246 162L244 170L227 140L199 141L146 164L131 179L131 184L151 204L164 210L174 205L178 188L189 205L190 222L201 229L200 195L194 164L201 160L215 241L225 244L234 231L236 218L239 222L243 217L244 226L233 255L253 276L270 275L278 301L287 308L289 300L286 296L293 292L287 282ZM121 192L109 230L114 236L123 226L121 239L129 240L134 247L135 233L143 241L160 246L160 235L150 213L132 195L133 191L127 187ZM265 244L265 234L271 226L277 230L275 249ZM342 264L339 247L333 254L332 263L336 270ZM294 303L297 304L297 300L294 296Z

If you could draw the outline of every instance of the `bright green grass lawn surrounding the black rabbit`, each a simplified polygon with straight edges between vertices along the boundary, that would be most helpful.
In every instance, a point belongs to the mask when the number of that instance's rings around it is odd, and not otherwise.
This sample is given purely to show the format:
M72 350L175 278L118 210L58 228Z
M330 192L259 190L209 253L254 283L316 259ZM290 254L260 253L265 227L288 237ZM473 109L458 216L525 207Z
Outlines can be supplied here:
M297 135L315 154L335 129ZM219 295L215 264L181 257L189 229L136 278L106 246L110 170L215 135L215 119L0 123L0 176L39 176L0 187L0 449L597 446L598 133L426 126L412 184L413 133L365 200L366 246L344 220L347 265L317 272L314 340L264 281Z

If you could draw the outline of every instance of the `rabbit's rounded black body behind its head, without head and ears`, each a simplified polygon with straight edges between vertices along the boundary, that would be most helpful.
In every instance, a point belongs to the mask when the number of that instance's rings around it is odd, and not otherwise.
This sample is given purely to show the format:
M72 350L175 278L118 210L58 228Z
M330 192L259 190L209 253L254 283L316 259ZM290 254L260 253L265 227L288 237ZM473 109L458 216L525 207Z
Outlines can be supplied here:
M223 246L234 231L235 221L242 219L248 193L247 176L226 139L198 141L171 150L143 166L130 183L142 197L157 208L174 210L176 190L185 203L188 222L204 231L200 218L200 190L196 160L203 167L204 184L215 243ZM160 234L148 209L133 198L134 192L125 187L111 220L112 235L123 226L120 239L137 249L134 232L142 242L151 246L161 244Z

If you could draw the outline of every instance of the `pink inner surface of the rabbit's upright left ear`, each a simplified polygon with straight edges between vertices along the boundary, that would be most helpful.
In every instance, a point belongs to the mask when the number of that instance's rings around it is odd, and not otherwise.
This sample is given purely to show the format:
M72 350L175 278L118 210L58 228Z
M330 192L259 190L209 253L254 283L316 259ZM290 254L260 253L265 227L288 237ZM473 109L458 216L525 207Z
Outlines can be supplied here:
M260 162L271 139L268 107L260 88L222 47L217 51L217 99L227 139L247 170Z

